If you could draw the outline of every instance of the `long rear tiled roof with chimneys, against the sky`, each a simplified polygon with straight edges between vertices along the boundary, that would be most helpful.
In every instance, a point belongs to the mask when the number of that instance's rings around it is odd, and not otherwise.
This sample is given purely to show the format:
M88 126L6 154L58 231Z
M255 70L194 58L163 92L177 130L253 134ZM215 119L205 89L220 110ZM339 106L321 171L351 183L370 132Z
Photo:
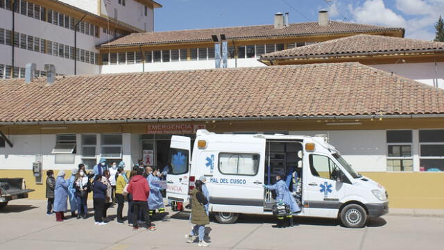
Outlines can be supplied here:
M134 33L102 44L101 47L120 47L139 44L165 44L176 42L212 41L212 35L225 34L231 39L280 38L303 35L326 35L336 33L362 33L402 31L404 28L389 28L348 22L330 22L329 26L319 26L318 22L289 24L285 28L274 28L273 25L241 26L227 28L205 28L184 31L163 31L153 33Z

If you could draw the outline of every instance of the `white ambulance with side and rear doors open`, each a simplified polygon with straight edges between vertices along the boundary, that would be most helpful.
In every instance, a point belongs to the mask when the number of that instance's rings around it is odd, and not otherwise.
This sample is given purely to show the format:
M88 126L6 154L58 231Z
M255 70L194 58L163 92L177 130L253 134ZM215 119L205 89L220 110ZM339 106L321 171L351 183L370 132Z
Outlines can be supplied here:
M167 199L175 210L189 202L194 182L205 176L210 213L220 223L239 214L271 215L275 194L264 188L279 173L292 176L291 192L302 211L295 216L337 218L359 228L388 213L384 187L352 169L325 135L239 135L198 130L173 135Z

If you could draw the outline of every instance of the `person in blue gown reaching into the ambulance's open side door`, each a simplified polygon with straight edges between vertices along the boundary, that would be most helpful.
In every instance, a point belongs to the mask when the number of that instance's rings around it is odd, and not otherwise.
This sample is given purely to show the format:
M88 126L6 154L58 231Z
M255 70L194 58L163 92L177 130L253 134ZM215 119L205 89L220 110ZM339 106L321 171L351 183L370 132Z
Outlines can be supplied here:
M283 202L287 204L290 207L290 213L298 213L300 212L300 208L298 206L298 203L296 203L296 200L291 195L291 192L285 182L282 180L282 177L284 174L278 174L276 176L276 183L273 185L264 185L264 188L269 190L275 190L276 191L276 202L280 203ZM278 225L277 227L286 227L286 226L293 226L293 215L287 215L287 225L284 225L284 217L278 217Z

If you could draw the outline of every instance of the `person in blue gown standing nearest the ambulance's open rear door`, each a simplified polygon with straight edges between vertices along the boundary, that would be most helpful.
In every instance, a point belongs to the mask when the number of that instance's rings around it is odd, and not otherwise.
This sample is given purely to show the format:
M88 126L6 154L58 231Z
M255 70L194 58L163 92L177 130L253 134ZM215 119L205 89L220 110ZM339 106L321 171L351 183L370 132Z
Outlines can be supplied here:
M164 199L162 197L162 187L160 186L160 173L158 169L153 169L152 167L145 168L146 181L150 187L150 195L148 196L148 209L150 217L155 218L155 210L159 210L160 216L163 218L165 216Z

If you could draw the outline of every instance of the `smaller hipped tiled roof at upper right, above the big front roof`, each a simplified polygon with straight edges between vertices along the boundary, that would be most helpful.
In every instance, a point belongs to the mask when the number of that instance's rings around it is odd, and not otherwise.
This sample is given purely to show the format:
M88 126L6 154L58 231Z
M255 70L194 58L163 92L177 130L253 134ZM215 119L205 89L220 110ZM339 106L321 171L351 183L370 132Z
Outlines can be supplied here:
M407 38L393 38L382 35L353 35L317 44L310 44L293 49L285 49L261 56L264 60L277 60L303 56L304 58L316 56L341 56L341 54L359 54L379 52L382 54L400 53L404 51L444 51L444 42L430 42Z

